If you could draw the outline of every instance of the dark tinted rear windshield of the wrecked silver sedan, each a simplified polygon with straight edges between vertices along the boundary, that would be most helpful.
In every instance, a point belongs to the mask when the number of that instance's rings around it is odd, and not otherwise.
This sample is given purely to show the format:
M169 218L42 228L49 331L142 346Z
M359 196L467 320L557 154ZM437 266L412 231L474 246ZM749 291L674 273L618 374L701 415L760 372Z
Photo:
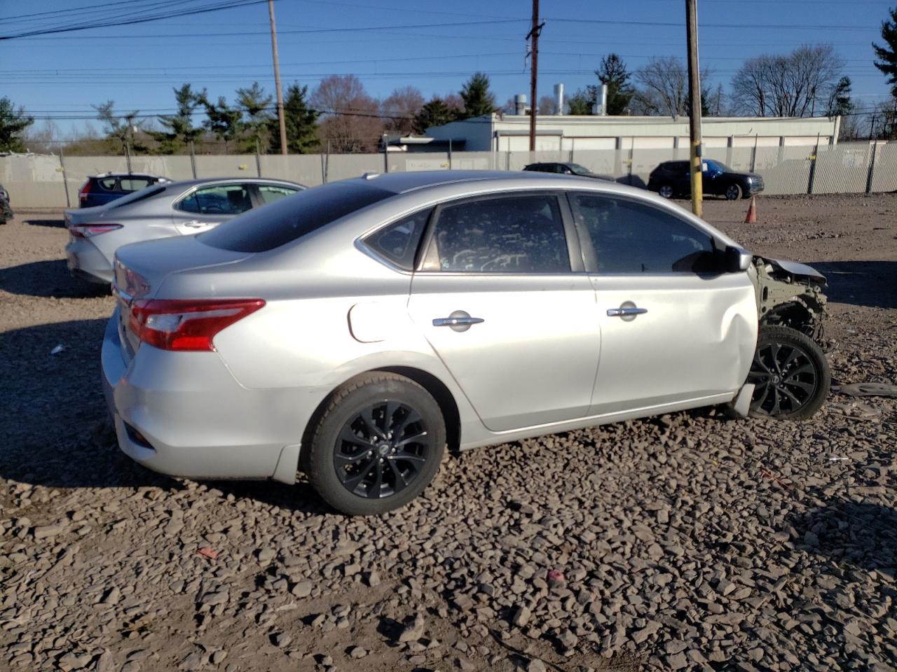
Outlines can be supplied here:
M365 183L334 182L250 210L196 239L223 250L266 252L395 195Z

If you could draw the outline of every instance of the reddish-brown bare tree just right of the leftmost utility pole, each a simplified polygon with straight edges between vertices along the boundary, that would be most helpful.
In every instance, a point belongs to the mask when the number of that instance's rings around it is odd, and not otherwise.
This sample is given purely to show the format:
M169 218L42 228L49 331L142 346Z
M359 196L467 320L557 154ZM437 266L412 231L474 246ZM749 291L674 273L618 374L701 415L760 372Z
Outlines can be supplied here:
M322 113L319 135L332 151L377 151L383 133L377 100L353 74L332 74L321 80L309 99Z

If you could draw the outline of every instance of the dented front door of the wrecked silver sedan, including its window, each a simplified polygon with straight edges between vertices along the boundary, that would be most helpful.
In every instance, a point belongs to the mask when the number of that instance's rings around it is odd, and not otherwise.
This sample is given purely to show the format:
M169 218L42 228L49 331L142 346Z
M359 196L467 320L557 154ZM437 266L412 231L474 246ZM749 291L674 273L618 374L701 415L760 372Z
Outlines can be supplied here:
M589 414L647 415L739 389L757 340L747 272L721 272L710 233L654 203L577 192L570 206L601 327Z

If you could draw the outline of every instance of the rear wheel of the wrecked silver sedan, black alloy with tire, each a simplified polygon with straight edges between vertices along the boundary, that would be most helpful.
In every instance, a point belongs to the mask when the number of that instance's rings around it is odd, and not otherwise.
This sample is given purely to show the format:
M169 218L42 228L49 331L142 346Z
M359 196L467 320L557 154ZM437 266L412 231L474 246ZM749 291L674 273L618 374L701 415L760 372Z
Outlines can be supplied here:
M309 445L311 486L336 510L385 513L420 495L439 470L439 403L402 375L371 373L332 395Z

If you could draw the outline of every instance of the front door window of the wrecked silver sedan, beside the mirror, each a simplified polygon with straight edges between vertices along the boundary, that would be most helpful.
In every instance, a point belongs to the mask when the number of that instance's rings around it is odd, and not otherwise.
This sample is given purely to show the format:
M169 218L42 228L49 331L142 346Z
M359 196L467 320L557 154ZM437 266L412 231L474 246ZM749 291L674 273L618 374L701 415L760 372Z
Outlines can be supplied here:
M599 273L704 273L717 270L713 239L653 205L599 194L571 194L588 231Z

